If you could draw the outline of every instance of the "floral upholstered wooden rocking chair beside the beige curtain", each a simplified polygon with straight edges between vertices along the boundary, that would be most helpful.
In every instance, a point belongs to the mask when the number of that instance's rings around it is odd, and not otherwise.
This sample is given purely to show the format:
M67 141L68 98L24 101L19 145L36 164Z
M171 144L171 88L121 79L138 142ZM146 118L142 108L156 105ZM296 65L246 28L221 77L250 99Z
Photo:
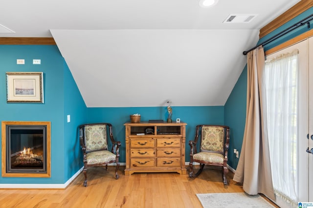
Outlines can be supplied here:
M200 136L200 139L199 139ZM197 143L200 142L200 145ZM229 148L229 127L220 125L198 125L196 127L195 140L189 141L191 169L189 177L197 177L205 165L221 166L223 182L227 185L226 174L227 152ZM200 151L197 151L197 146ZM194 174L193 162L200 163L200 169Z

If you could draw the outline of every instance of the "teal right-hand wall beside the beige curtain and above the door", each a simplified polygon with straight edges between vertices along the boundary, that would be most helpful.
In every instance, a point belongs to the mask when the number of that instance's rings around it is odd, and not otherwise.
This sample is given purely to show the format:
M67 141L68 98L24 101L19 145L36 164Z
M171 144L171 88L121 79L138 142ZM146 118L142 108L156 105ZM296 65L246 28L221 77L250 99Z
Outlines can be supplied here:
M313 14L313 8L303 12L301 15L291 19L291 21L285 23L281 27L277 28L273 32L269 33L267 36L261 38L258 41L259 43L264 42L268 38L278 34L279 32L291 27L296 24L298 21L310 16ZM311 23L311 28L307 28L307 25L304 25L298 29L293 30L288 35L283 38L278 38L264 46L264 50L267 51L291 38L294 38L302 33L305 33L313 28L313 21ZM239 77L235 87L233 88L231 94L229 95L227 102L225 103L225 125L230 126L230 155L228 164L236 169L238 165L238 158L234 157L233 149L238 149L241 152L241 146L243 143L243 136L245 131L246 123L246 67L244 68L241 76Z

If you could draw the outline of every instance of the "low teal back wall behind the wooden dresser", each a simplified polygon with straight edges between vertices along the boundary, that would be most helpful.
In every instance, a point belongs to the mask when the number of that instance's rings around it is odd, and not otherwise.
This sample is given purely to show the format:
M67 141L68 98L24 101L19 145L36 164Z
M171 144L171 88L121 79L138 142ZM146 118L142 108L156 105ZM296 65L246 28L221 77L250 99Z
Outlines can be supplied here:
M186 126L186 150L185 161L189 161L190 147L189 140L194 140L196 126L199 124L224 125L224 106L203 106L203 107L177 107L173 106L173 121L180 118ZM125 162L125 127L124 123L130 122L130 115L139 113L141 121L149 119L167 118L166 107L133 107L133 108L88 108L88 123L108 122L113 125L115 140L120 141L120 162Z

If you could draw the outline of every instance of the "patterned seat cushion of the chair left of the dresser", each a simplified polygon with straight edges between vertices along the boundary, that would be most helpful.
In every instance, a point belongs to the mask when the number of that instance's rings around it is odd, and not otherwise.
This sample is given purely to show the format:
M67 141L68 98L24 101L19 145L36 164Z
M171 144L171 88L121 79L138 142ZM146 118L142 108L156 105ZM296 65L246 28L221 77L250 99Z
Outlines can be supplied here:
M116 155L111 151L92 151L86 154L87 164L93 165L116 160Z

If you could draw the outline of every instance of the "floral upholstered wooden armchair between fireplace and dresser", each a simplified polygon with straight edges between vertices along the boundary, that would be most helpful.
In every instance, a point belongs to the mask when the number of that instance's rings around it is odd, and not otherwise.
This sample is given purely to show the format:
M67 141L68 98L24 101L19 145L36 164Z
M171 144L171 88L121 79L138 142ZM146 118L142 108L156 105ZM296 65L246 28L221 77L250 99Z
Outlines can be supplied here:
M109 151L108 137L112 148ZM117 170L119 168L119 147L121 142L115 141L110 123L83 124L79 126L79 140L83 151L84 161L84 186L87 187L87 168L95 166L106 166L116 163L115 178L118 179Z

